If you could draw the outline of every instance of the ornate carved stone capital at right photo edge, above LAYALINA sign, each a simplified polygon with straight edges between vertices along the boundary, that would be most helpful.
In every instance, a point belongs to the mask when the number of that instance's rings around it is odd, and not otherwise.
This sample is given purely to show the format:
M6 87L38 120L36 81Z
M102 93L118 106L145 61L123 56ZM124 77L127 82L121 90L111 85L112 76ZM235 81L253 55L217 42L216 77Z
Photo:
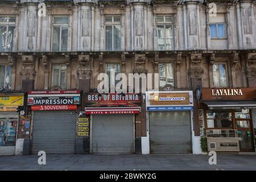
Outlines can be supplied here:
M246 55L246 77L256 77L256 53L247 53Z

